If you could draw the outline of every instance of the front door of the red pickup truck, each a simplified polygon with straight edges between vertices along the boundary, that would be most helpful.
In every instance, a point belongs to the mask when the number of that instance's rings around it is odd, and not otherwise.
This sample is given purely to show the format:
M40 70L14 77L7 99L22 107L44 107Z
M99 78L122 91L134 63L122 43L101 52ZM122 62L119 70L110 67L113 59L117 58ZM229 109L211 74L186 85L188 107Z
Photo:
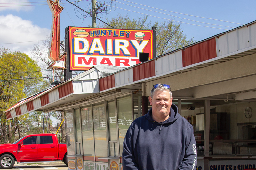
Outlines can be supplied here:
M38 155L37 155L37 136L30 136L27 138L24 138L23 145L18 145L17 147L17 157L20 160L20 162L33 162L37 161Z

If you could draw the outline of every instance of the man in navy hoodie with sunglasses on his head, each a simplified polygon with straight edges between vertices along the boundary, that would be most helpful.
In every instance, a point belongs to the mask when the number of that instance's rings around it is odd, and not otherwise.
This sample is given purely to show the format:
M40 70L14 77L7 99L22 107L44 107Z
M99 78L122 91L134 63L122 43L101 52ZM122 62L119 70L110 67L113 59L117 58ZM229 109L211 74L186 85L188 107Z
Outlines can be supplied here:
M152 108L132 122L123 143L123 169L196 169L192 125L172 104L169 85L156 84L149 96Z

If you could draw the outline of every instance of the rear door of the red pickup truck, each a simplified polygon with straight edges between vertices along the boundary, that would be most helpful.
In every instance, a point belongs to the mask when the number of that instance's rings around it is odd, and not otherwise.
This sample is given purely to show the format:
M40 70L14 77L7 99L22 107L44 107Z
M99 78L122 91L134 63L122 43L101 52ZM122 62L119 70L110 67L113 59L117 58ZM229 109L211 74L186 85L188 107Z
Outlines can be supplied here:
M39 136L38 159L39 161L52 161L58 159L58 141L51 135Z

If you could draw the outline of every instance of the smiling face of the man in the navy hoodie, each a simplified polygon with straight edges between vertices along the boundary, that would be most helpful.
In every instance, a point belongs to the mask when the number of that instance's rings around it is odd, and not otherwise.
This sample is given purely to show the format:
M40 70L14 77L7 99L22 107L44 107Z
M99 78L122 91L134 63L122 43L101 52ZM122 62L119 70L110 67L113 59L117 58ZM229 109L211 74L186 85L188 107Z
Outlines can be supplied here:
M148 99L152 106L152 117L157 117L158 119L169 117L172 97L168 90L155 91L153 97L151 98L151 96L149 96Z

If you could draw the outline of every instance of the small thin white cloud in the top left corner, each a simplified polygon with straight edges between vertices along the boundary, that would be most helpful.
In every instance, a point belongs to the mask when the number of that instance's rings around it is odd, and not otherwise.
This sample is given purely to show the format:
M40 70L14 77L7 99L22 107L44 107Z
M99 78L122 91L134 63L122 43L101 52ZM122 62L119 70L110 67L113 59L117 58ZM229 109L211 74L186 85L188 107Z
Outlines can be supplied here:
M14 10L14 11L29 11L32 9L28 0L0 0L1 8L0 11Z

